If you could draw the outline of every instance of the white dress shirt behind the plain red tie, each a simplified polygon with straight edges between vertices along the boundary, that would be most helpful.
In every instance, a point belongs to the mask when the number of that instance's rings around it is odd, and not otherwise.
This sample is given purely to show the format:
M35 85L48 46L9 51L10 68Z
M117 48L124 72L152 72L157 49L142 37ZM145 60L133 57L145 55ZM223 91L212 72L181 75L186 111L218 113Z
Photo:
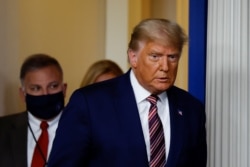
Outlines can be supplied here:
M56 133L56 129L58 126L58 121L61 117L61 113L58 114L56 116L56 118L54 118L51 121L47 121L49 127L48 127L48 134L49 134L49 145L48 145L48 155L47 158L49 157L51 148L52 148L52 144L55 138L55 133ZM29 124L30 127L34 133L34 136L36 138L36 141L38 141L38 138L40 137L42 130L40 129L40 124L41 121L38 120L37 118L35 118L31 113L28 112L28 120L29 120ZM27 162L28 162L28 166L31 166L31 161L32 161L32 157L33 157L33 152L36 146L36 141L32 135L32 132L30 130L30 128L28 127L28 141L27 141L27 150L28 150L28 156L27 156Z

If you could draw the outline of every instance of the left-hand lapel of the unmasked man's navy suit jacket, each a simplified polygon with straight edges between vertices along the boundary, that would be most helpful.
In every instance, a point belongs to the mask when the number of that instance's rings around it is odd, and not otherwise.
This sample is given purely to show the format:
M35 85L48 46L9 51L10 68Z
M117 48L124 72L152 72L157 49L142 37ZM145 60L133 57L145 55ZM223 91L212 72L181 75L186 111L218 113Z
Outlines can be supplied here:
M133 89L130 83L129 72L119 80L120 84L116 96L119 96L116 101L116 110L118 111L118 119L121 129L125 134L125 142L128 142L128 152L132 161L143 162L137 165L148 165L146 144L144 140L143 130L141 127L140 116L137 109L137 104ZM131 164L134 165L135 164Z

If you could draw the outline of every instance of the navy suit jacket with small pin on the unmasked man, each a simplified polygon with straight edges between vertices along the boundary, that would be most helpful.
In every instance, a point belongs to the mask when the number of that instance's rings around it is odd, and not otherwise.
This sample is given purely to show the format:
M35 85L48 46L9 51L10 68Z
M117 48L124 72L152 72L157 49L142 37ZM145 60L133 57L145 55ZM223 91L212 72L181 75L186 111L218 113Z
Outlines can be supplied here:
M171 87L166 167L205 167L202 103ZM126 74L76 90L59 121L49 167L148 167L139 112Z

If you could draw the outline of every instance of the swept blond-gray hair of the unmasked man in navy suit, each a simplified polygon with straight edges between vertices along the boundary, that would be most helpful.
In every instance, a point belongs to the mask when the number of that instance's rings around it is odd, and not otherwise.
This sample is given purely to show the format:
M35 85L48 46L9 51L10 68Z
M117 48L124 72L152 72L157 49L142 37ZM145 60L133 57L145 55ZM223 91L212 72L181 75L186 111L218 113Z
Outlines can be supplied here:
M167 19L145 19L135 26L129 42L129 49L138 50L139 42L161 42L182 51L187 35L175 22Z

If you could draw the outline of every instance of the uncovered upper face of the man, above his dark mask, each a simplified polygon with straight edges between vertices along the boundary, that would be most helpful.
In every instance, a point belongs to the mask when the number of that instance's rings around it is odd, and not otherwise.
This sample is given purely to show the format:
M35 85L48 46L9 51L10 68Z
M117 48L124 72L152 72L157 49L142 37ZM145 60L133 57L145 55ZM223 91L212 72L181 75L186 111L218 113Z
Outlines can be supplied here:
M48 66L28 72L23 80L20 93L23 99L25 99L26 93L40 96L63 91L65 96L66 87L67 85L62 83L62 76L58 69Z

